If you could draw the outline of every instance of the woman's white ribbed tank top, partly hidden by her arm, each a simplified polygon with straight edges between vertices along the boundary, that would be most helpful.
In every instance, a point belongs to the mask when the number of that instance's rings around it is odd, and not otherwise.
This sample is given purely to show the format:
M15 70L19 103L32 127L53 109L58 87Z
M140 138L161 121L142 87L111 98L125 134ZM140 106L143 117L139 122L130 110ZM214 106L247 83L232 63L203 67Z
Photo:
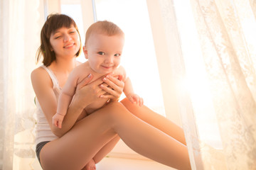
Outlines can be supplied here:
M46 72L48 72L50 79L53 81L53 91L56 96L56 99L58 101L58 96L60 94L61 88L58 84L58 79L56 79L53 72L50 70L50 68L42 65L43 69L46 69ZM53 132L50 130L50 125L48 124L48 121L46 120L46 116L43 114L42 108L38 102L38 99L36 98L36 145L40 142L44 141L52 141L58 138L53 134Z

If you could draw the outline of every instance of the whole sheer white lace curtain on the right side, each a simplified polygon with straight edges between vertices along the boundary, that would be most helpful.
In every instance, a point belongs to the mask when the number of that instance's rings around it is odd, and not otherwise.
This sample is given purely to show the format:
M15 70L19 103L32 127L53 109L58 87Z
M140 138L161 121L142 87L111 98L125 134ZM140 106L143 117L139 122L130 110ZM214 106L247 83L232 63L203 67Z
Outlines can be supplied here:
M193 169L256 169L256 1L159 4Z

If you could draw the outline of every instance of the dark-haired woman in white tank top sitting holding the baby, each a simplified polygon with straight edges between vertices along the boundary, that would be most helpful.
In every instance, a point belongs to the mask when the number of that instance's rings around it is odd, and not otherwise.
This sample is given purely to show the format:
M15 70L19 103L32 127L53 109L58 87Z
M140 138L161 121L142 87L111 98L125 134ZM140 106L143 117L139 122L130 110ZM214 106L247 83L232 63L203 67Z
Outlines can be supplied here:
M62 14L48 16L38 49L43 66L31 73L38 100L36 152L43 169L95 169L119 137L149 159L176 169L191 169L182 129L146 106L133 105L126 98L117 102L124 84L111 75L90 82L89 74L78 84L62 128L51 123L61 87L80 64L75 60L80 49L73 19ZM99 96L112 98L112 102L85 116L83 108L104 99Z

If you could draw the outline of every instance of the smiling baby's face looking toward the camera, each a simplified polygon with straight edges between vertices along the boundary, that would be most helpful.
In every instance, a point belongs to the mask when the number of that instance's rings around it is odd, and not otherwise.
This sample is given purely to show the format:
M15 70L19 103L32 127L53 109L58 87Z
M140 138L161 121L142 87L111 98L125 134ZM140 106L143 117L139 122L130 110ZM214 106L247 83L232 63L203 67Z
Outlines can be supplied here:
M85 58L99 74L114 72L120 64L124 37L122 35L92 34L84 47Z

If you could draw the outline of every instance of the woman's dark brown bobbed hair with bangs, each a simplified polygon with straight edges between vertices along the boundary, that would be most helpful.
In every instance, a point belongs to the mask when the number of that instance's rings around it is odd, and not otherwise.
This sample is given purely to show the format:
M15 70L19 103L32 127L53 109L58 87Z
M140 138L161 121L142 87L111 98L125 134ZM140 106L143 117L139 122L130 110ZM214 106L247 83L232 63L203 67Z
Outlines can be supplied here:
M55 52L51 50L52 47L50 45L50 35L59 28L70 28L70 26L74 26L75 29L78 31L78 26L75 24L73 18L70 18L70 16L55 13L50 14L47 17L46 23L44 23L43 28L41 30L41 45L36 52L36 63L39 62L41 56L43 56L43 64L46 67L50 66L50 64L56 60ZM78 55L80 55L80 52L82 51L82 43L79 31L78 35L80 38L80 49L75 54L77 57Z

